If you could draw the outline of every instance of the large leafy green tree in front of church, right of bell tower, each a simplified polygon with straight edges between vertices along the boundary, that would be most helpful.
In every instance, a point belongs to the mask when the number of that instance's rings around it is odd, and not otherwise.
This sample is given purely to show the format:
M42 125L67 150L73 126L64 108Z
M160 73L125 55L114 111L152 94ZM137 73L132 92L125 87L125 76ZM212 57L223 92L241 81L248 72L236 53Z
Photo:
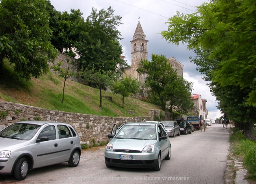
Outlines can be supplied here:
M158 95L163 110L187 113L193 107L192 84L177 75L165 56L152 54L152 61L141 60L137 71L148 75L145 85Z

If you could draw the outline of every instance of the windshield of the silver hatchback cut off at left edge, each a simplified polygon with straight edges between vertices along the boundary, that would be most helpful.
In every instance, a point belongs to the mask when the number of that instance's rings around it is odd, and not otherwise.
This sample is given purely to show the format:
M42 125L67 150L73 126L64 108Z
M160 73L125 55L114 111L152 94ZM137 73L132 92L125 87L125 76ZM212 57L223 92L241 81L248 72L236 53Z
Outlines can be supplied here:
M30 140L40 128L40 125L14 123L0 131L0 137L20 140Z

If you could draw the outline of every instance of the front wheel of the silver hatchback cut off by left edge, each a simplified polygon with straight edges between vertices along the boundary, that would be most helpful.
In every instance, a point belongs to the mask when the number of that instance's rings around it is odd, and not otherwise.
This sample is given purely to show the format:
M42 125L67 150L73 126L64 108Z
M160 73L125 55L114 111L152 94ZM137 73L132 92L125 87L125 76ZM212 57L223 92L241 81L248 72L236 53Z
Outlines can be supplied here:
M22 157L16 163L14 168L14 177L17 180L24 180L28 174L28 160Z

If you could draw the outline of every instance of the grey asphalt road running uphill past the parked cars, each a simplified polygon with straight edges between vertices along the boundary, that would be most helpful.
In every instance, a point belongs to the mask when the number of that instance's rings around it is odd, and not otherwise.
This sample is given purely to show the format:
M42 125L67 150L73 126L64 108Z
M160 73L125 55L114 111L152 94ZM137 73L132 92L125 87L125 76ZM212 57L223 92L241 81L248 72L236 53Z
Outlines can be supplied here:
M229 153L229 127L213 124L207 131L169 138L171 160L163 160L160 171L151 169L107 168L104 148L83 151L80 164L67 163L33 169L25 180L0 176L0 183L53 184L224 184Z

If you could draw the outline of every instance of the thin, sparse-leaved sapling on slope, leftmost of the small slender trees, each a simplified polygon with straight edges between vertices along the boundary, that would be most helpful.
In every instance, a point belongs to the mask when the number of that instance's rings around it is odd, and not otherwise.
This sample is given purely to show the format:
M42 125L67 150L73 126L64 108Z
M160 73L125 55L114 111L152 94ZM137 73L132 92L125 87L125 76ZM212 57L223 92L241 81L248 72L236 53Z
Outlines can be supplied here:
M66 80L69 77L74 76L76 74L76 72L73 69L71 69L71 63L68 59L67 59L67 66L66 67L65 66L61 67L62 63L63 63L63 61L60 61L56 65L52 66L52 69L54 69L54 71L57 73L57 75L59 75L59 77L64 78L63 96L62 96L61 104L64 101Z

